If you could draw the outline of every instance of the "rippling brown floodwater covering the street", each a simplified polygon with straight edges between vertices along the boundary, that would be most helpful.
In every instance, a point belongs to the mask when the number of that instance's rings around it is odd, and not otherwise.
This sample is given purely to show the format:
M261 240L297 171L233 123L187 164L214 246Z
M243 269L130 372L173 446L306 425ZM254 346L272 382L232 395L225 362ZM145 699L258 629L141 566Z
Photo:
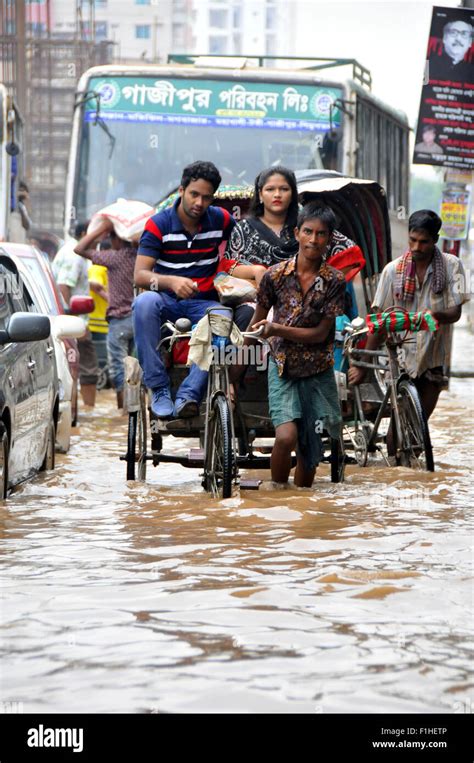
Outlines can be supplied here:
M171 464L127 483L102 393L56 471L0 504L0 708L472 712L471 411L454 379L434 474L324 466L217 501Z

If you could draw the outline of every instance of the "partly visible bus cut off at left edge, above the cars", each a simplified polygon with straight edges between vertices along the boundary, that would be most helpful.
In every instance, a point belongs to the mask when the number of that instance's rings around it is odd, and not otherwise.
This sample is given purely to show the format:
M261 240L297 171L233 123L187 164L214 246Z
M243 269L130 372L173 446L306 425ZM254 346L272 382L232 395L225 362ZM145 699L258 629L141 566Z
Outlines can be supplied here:
M26 241L18 194L23 174L23 120L5 85L0 83L0 241Z

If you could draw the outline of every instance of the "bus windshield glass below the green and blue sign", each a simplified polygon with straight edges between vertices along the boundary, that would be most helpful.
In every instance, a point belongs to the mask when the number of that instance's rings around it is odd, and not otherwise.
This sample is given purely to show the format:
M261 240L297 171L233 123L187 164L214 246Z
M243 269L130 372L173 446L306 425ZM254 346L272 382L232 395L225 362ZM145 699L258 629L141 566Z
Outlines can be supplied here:
M99 125L83 125L74 201L77 220L90 219L120 197L156 204L178 187L183 167L197 159L214 162L224 184L253 184L263 167L277 164L293 170L323 168L320 136L308 130L146 122L108 126L114 140Z

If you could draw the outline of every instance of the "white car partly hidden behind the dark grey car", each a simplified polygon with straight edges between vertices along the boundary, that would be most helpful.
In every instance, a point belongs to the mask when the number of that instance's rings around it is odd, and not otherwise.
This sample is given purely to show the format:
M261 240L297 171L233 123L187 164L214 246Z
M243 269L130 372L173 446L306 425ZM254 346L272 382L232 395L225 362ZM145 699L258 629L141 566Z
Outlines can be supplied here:
M80 315L91 312L94 303L88 295L75 296L70 307L66 309L49 261L36 247L3 243L0 256L2 251L16 263L38 310L51 318L51 335L60 388L56 450L67 453L71 441L71 426L77 421L79 354L76 339L86 330L86 324Z

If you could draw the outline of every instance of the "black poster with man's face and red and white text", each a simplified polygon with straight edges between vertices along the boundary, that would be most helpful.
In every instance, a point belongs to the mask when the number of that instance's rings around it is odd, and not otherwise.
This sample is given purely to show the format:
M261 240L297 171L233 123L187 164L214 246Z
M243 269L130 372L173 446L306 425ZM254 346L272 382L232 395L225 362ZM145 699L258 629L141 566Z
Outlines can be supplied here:
M474 10L433 8L414 164L474 170Z

